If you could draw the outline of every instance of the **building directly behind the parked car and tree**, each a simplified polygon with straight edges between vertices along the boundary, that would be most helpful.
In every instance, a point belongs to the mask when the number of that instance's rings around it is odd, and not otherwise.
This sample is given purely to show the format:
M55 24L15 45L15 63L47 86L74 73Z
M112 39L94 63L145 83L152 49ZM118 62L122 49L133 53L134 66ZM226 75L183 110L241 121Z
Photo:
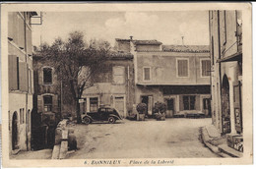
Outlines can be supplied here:
M84 90L81 113L94 112L100 105L116 108L127 117L134 104L133 56L128 52L113 52L104 62L103 70L94 77L95 84Z

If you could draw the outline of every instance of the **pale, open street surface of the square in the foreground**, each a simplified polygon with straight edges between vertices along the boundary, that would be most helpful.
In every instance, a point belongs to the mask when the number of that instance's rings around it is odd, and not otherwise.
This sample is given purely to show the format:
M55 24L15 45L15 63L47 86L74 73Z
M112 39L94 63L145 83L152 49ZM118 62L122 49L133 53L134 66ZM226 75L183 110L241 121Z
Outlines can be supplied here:
M211 119L128 121L77 125L78 150L68 158L218 157L199 140Z

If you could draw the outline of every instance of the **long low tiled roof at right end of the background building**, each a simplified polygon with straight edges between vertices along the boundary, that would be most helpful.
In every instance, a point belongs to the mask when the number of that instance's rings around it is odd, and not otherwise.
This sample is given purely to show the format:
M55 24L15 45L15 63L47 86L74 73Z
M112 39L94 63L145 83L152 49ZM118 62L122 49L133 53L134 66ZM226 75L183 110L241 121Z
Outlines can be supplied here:
M162 45L162 51L171 52L210 52L209 45Z

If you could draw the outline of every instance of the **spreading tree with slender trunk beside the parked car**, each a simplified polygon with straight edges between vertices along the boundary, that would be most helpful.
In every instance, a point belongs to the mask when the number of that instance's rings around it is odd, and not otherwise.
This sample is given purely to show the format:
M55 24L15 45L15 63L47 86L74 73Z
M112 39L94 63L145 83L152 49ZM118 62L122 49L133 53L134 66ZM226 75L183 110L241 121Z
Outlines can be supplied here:
M40 54L54 67L58 79L68 84L76 103L77 123L81 123L79 99L86 88L94 85L94 76L100 72L110 50L110 43L92 39L84 41L81 31L73 31L68 40L56 38L51 46L40 46Z

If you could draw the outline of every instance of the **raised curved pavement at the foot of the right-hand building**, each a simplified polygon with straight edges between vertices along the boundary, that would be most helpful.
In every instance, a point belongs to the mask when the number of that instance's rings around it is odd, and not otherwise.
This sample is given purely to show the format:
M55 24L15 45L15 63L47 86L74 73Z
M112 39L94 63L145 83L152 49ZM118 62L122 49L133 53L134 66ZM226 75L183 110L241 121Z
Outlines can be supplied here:
M225 158L242 157L242 152L227 146L225 136L221 136L214 125L202 127L200 132L205 145L219 156Z

